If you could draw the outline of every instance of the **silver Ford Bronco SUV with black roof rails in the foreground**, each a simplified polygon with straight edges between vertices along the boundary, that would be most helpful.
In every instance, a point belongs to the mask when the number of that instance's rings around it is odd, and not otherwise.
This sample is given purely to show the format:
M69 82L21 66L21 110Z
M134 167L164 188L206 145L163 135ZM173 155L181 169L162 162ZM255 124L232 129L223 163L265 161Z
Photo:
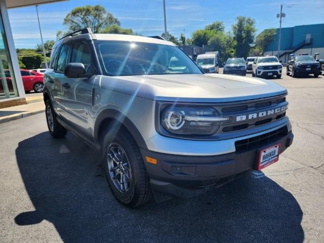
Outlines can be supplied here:
M204 74L160 37L84 29L54 45L50 68L50 134L69 130L97 149L128 207L221 186L274 163L293 141L285 88Z

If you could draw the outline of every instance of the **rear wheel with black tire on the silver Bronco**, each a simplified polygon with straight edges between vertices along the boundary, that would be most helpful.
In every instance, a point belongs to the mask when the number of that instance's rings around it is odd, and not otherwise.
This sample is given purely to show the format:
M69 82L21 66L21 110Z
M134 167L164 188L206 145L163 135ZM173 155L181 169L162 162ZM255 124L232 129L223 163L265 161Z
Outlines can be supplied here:
M67 130L57 121L56 113L54 112L50 100L46 101L45 114L46 114L47 127L49 129L50 134L54 138L64 138L67 133ZM52 124L51 124L51 117L50 117L51 115L52 115Z

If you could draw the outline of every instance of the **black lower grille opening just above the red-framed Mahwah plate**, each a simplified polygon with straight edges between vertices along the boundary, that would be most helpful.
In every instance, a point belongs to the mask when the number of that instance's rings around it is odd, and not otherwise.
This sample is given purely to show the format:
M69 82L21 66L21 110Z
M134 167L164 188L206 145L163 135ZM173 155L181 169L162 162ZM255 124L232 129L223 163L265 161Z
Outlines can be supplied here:
M235 142L236 153L246 152L277 141L288 134L287 127L282 127L269 133Z

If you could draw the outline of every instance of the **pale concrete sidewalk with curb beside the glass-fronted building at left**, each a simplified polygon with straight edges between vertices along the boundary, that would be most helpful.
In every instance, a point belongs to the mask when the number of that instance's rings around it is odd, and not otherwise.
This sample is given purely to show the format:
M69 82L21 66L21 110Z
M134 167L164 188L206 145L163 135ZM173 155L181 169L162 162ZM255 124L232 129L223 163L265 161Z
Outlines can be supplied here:
M43 98L43 97L42 97ZM45 111L44 101L29 103L27 105L18 105L0 109L0 123L6 123L10 120L20 119L29 115L34 115Z

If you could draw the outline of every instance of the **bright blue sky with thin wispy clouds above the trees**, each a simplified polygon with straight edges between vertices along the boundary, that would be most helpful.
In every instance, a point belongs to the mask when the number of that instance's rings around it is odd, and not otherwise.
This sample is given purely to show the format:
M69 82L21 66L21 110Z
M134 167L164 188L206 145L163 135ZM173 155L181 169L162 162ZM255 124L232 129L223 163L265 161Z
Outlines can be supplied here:
M323 23L324 0L231 0L231 1L173 1L166 0L168 31L179 37L190 37L196 29L204 28L213 21L223 21L231 30L236 16L253 17L258 32L278 27L276 14L284 5L286 18L282 27ZM70 0L44 4L38 7L43 37L56 39L56 31L63 29L63 19L73 8L85 5L102 5L121 22L143 35L160 35L164 32L163 0ZM16 48L34 48L41 43L34 6L10 9L9 18Z

